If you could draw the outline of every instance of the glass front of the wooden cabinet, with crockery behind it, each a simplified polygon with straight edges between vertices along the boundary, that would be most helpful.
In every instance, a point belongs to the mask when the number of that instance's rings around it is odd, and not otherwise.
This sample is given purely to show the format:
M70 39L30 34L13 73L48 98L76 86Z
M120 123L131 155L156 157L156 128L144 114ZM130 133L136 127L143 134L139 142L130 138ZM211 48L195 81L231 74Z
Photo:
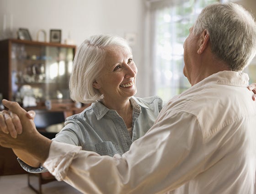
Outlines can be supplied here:
M69 99L75 46L11 44L12 100L27 106ZM26 107L26 106L25 106Z

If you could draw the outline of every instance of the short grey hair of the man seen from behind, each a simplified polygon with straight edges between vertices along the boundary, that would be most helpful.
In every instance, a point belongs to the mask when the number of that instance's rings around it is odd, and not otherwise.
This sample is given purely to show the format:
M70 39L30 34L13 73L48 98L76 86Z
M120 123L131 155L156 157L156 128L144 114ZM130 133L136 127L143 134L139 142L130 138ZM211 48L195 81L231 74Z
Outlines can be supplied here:
M212 4L198 16L193 32L210 35L214 55L226 62L232 71L243 70L256 54L256 23L242 6Z

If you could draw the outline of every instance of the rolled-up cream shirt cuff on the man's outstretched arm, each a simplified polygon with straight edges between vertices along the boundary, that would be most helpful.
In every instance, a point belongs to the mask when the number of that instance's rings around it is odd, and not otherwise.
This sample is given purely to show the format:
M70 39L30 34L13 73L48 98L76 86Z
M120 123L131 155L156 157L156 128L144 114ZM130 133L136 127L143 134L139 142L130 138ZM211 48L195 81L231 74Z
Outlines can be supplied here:
M65 179L74 156L82 149L80 146L53 141L49 156L43 166L55 176L58 181Z

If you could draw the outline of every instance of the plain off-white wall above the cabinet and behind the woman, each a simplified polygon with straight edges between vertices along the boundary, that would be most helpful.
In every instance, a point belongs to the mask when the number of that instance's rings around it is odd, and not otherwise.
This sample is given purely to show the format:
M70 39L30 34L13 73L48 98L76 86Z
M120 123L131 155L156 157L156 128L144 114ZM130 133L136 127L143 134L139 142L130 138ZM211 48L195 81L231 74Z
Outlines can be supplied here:
M135 33L133 59L140 74L144 72L144 11L144 0L0 0L0 33L4 14L7 20L10 15L13 18L15 38L20 27L28 28L33 40L37 31L44 29L47 41L50 29L61 29L62 42L70 33L76 45L95 34L125 37L126 33ZM144 96L139 74L137 96Z

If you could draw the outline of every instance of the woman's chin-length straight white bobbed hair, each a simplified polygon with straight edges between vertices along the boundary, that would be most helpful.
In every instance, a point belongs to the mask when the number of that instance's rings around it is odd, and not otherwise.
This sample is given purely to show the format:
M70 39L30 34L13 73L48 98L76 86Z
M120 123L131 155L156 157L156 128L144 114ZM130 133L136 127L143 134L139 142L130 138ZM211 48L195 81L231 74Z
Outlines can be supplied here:
M92 84L100 77L101 70L105 65L107 49L114 46L131 51L125 39L110 35L91 36L79 46L69 80L72 100L91 103L103 98L103 95Z

